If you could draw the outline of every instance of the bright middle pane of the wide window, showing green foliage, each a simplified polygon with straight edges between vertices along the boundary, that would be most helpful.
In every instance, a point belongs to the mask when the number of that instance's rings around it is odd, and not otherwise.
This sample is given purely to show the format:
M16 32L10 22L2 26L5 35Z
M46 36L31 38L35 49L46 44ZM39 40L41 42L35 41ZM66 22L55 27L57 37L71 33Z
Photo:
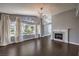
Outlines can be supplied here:
M35 25L31 24L21 24L21 34L23 35L32 35L35 34Z

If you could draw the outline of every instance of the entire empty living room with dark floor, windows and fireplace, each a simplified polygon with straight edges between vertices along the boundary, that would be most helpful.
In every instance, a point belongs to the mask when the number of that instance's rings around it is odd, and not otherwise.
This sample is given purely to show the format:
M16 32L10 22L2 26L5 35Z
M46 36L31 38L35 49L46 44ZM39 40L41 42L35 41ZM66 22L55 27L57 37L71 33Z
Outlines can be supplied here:
M0 3L0 55L78 56L78 26L78 3Z

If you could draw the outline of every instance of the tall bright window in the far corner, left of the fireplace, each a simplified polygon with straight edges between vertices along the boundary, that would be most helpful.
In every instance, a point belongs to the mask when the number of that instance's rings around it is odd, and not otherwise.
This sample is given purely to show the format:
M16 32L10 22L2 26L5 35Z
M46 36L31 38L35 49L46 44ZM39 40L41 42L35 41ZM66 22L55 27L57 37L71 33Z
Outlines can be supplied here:
M44 36L51 35L52 32L52 20L51 17L48 15L43 19L43 27L44 27Z

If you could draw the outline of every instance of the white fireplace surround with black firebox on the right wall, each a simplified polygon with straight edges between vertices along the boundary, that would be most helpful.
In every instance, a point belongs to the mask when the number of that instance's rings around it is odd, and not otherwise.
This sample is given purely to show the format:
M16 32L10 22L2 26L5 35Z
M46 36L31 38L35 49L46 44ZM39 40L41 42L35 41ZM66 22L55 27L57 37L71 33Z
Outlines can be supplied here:
M68 29L53 30L53 40L68 43Z

